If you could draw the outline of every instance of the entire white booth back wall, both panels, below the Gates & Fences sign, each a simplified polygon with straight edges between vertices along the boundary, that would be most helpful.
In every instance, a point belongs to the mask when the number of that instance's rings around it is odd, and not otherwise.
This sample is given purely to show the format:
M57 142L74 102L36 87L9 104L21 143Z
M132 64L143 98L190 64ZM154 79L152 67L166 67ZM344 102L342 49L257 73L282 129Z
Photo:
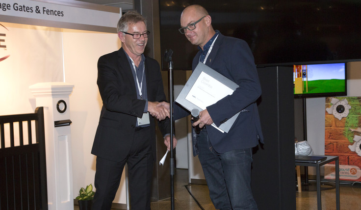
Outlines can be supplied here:
M117 34L0 23L8 29L1 44L6 44L10 54L0 62L0 115L34 112L32 84L75 85L69 110L76 197L81 187L94 186L96 157L90 151L102 107L96 84L97 62L100 56L120 48ZM126 203L124 174L114 202Z

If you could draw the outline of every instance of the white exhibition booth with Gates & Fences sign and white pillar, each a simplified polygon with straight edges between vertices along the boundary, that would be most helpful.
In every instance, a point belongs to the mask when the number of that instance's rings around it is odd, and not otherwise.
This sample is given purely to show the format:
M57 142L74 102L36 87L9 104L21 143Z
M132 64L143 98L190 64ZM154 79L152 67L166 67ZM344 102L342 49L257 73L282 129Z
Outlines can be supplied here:
M89 131L96 130L102 107L97 62L121 46L116 24L122 10L79 1L0 5L0 115L44 107L49 210L73 209L79 189L94 183ZM59 101L63 113L56 109ZM61 120L71 126L54 127ZM124 177L115 203L126 204Z

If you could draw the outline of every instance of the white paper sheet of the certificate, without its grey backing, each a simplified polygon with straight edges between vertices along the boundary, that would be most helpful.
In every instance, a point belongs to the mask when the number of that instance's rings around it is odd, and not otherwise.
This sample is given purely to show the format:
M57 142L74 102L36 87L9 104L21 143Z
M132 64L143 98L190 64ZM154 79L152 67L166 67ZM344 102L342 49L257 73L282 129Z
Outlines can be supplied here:
M232 93L231 88L202 71L185 99L204 110Z

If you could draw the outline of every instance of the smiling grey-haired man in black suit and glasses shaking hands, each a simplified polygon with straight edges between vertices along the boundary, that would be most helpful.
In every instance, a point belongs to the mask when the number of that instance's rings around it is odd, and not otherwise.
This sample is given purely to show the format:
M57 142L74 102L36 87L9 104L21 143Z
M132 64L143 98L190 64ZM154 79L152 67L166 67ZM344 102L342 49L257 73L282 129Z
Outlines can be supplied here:
M122 47L98 61L97 84L103 107L92 154L97 156L92 210L110 210L125 164L132 210L150 210L155 158L155 118L170 149L169 110L159 64L143 55L150 36L137 12L124 14L117 25ZM177 140L173 137L174 147Z

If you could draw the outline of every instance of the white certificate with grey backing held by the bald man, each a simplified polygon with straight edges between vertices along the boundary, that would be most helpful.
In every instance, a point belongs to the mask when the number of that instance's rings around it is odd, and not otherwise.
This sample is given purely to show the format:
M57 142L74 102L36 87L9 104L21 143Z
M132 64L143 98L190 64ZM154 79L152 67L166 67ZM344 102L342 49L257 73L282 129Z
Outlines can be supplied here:
M200 62L180 91L176 102L189 111L204 110L207 106L231 95L237 87L238 84ZM228 132L238 114L239 112L219 127L215 124L212 126L221 132Z

